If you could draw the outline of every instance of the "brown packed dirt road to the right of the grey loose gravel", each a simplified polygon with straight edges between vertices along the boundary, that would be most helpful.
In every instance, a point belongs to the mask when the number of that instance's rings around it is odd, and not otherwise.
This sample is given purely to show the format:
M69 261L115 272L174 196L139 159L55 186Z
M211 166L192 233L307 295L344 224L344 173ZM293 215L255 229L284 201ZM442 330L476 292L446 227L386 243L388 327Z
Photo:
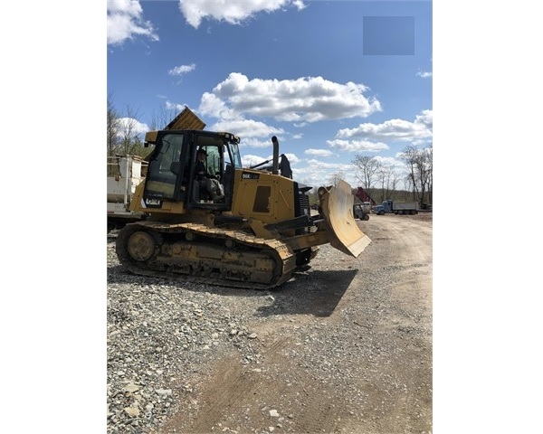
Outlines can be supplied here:
M258 363L217 358L157 432L432 432L431 214L358 225L360 257L321 248L254 312Z

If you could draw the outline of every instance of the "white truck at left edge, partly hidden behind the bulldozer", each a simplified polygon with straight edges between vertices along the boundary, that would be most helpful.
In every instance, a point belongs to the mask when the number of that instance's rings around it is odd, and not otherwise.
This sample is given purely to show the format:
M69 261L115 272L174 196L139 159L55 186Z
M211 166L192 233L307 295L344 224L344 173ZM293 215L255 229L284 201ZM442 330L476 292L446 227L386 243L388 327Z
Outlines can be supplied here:
M140 156L108 157L108 232L146 218L146 212L129 211L129 204L147 166Z

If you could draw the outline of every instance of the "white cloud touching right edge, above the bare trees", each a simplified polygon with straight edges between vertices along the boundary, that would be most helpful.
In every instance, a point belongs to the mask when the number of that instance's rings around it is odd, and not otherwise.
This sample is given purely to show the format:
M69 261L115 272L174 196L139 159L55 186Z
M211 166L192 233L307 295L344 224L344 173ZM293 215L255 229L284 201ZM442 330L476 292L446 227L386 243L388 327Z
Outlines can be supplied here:
M382 124L360 124L356 128L338 130L338 138L369 138L372 140L414 141L432 137L432 110L423 110L414 122L390 119Z

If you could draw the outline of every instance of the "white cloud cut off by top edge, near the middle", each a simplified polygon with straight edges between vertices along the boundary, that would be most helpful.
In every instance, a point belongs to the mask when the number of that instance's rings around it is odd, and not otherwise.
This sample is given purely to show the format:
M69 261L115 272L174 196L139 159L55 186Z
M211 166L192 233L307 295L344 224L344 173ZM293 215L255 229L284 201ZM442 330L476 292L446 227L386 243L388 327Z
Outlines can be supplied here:
M179 10L186 23L195 29L204 18L242 24L260 12L271 13L290 5L298 10L305 7L301 0L179 0Z

